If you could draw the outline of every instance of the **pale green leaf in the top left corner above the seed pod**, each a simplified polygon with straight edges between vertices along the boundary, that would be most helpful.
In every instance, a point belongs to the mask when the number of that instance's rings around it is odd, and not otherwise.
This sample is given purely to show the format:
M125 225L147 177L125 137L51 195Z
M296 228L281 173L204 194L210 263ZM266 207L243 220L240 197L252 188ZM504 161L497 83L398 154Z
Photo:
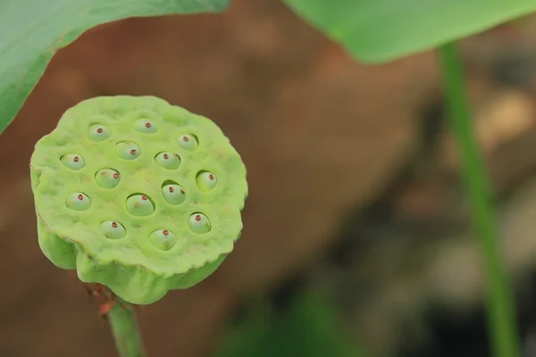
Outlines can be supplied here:
M219 12L229 0L1 0L0 134L60 47L96 25L129 17Z

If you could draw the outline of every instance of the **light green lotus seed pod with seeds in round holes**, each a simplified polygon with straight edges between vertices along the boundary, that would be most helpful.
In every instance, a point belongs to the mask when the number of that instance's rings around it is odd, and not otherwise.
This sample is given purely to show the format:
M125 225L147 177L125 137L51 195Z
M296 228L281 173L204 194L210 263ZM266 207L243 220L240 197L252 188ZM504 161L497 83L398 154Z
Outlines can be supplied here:
M129 303L207 278L242 230L239 154L212 120L153 96L73 106L38 141L30 173L46 257Z

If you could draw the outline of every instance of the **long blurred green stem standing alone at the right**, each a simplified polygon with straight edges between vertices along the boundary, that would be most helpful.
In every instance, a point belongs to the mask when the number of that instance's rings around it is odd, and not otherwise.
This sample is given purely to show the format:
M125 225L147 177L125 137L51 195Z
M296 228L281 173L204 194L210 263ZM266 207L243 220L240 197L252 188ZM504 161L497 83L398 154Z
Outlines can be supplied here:
M450 124L463 164L463 176L473 209L473 225L479 238L487 279L487 314L490 343L496 357L520 356L515 303L502 261L495 227L495 213L487 170L475 140L473 120L465 94L464 73L455 44L440 47Z

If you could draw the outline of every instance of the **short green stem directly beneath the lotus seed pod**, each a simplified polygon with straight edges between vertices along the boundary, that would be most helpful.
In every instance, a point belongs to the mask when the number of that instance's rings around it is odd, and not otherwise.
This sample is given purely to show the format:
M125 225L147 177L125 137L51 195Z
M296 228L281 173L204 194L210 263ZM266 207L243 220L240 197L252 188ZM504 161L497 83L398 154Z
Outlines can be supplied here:
M114 303L112 310L108 312L108 320L120 357L147 356L132 305L119 301Z

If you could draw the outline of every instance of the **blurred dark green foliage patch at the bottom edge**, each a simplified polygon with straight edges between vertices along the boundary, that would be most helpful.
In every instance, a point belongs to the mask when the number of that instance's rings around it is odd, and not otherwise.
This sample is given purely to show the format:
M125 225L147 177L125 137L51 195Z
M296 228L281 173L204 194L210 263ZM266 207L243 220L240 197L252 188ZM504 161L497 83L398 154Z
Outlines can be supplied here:
M364 357L364 347L337 323L337 309L312 291L298 295L288 313L258 303L230 331L214 357Z

